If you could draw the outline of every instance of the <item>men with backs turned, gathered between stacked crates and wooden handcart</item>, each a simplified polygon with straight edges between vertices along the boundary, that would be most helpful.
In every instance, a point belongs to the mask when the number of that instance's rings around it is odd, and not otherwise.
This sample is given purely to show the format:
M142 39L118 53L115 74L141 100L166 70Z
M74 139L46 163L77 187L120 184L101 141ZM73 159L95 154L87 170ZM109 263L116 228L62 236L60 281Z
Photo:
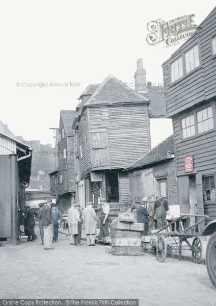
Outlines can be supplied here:
M139 223L144 223L143 235L151 234L154 225L154 215L156 216L157 228L165 226L167 211L169 210L168 202L161 195L156 197L154 203L149 202L147 197L143 198L143 202L137 207L132 204L132 199L128 199L130 210L135 214L135 219Z

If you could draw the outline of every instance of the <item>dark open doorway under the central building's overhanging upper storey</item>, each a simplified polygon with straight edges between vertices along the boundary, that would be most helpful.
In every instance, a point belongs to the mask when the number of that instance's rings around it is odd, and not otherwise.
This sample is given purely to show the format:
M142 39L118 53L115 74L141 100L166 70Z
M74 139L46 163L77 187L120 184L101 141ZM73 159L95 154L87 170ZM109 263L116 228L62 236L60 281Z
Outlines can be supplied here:
M119 201L119 177L118 171L105 172L106 177L106 201L118 202Z

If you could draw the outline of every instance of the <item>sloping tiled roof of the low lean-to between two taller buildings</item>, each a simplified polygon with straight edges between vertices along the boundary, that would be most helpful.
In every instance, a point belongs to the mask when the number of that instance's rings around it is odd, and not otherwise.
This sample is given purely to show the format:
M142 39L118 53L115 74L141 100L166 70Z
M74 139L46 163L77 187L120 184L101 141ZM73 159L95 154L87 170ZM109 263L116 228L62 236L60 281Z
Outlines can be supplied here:
M156 147L154 147L145 156L141 157L138 161L129 165L125 169L131 170L134 168L141 168L147 165L155 164L161 161L170 159L167 153L169 151L174 152L174 138L173 134L166 138L163 142L160 142Z

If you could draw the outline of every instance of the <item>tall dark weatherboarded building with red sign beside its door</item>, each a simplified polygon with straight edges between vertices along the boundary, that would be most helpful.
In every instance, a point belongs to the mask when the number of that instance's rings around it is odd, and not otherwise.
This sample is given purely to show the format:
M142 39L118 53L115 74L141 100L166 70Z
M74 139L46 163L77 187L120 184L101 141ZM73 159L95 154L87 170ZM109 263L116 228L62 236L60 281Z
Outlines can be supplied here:
M182 213L216 218L216 8L163 64Z

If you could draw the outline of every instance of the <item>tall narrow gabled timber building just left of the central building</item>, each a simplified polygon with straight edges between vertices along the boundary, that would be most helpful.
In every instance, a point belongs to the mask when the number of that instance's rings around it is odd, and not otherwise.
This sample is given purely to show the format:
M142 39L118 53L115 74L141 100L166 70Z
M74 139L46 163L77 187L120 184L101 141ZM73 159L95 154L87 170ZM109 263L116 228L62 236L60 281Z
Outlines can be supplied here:
M50 195L56 197L58 208L64 213L75 199L75 152L73 119L76 111L61 110L58 143L58 168L49 173Z

